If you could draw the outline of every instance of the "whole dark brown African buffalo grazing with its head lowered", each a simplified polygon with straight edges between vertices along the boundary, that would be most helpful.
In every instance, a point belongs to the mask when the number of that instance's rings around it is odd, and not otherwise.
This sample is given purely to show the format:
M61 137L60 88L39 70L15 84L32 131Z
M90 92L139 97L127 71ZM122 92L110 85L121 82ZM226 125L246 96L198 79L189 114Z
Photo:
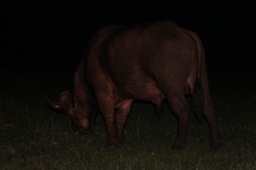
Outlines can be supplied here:
M177 117L172 149L186 146L192 94L193 110L210 128L212 148L220 147L213 100L209 94L204 48L199 36L171 21L132 26L107 26L98 31L82 57L70 91L46 105L72 119L71 128L90 134L98 109L107 131L108 149L124 143L123 129L133 100L148 100L159 111L167 100ZM115 108L117 109L115 115ZM116 124L116 134L114 131Z

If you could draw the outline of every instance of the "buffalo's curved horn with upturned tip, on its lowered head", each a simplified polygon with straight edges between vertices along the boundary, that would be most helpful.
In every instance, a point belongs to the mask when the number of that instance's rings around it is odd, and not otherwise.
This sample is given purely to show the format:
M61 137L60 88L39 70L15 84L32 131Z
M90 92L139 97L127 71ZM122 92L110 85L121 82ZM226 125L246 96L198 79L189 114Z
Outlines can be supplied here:
M68 114L68 112L71 108L71 106L70 106L71 102L70 102L69 98L67 98L66 100L59 101L59 102L54 102L49 99L49 93L50 92L47 92L47 94L45 96L46 106L53 112Z

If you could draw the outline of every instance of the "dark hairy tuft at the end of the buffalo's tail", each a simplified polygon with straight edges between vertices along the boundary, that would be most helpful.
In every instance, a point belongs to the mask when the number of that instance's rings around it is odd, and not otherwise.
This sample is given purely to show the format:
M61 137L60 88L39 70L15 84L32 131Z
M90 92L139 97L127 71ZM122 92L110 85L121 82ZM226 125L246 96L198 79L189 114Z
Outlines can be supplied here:
M200 121L204 110L204 98L202 85L198 77L196 77L196 81L194 84L194 90L192 95L192 108L194 115Z

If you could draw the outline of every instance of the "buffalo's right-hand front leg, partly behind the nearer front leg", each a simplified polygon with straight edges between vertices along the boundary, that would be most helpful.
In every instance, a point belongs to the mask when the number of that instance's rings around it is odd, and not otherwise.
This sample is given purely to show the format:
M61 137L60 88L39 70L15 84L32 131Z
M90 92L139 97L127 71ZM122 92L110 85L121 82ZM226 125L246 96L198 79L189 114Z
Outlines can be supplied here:
M124 125L127 119L127 116L130 113L132 107L133 100L129 100L123 106L117 108L116 116L115 116L115 124L116 124L116 139L124 144Z

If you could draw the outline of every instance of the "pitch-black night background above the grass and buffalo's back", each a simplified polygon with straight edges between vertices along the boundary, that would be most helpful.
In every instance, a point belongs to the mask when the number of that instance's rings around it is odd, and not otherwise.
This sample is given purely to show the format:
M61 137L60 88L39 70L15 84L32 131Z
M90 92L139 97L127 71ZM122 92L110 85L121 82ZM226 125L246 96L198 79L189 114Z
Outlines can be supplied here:
M1 8L1 67L34 73L71 68L73 74L84 47L101 27L161 20L173 20L200 36L208 68L255 65L256 18L250 1L6 1Z

